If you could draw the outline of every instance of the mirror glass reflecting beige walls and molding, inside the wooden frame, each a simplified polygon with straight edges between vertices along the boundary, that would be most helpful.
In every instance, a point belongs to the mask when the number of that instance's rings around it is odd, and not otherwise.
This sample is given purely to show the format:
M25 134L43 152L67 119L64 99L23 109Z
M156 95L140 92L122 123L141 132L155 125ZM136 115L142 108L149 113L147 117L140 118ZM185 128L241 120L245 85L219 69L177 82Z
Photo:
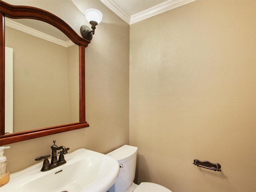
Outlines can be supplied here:
M59 32L38 20L6 18L5 46L13 49L13 132L79 122L78 46ZM6 118L12 113L7 110Z

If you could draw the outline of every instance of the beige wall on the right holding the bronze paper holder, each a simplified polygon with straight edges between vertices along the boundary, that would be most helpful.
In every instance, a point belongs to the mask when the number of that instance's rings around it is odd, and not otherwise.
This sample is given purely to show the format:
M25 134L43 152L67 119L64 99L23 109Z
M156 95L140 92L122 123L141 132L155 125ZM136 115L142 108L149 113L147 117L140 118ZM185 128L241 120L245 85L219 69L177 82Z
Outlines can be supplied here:
M255 10L256 1L196 1L130 26L136 182L255 192Z

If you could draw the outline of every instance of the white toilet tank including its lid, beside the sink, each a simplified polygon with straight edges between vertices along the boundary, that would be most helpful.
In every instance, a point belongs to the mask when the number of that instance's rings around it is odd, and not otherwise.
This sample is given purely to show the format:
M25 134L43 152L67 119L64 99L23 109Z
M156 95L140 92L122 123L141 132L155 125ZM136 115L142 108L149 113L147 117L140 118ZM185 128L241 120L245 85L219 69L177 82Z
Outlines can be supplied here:
M125 192L133 183L136 170L137 147L124 145L110 153L108 156L116 159L120 165L120 172L109 192Z

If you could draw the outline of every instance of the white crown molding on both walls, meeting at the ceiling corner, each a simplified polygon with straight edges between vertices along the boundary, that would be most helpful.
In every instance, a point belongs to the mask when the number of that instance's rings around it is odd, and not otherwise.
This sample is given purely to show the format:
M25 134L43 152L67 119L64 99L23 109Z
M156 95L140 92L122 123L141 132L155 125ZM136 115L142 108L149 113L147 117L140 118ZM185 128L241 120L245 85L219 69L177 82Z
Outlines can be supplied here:
M126 13L118 4L116 4L116 2L114 2L114 0L100 0L100 1L104 5L106 5L110 10L112 10L116 15L118 15L122 20L124 20L126 23L134 24L141 20L150 18L157 14L160 14L160 13L166 12L168 10L177 8L179 6L188 4L195 0L167 0L166 2L158 4L156 6L153 6L144 11L138 12L131 16L128 13Z

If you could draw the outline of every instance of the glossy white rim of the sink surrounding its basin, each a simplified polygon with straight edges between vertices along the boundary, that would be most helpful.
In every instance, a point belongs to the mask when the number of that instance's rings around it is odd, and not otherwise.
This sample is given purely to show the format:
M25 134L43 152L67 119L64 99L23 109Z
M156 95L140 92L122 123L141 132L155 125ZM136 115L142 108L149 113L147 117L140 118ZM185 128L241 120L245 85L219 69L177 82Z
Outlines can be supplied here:
M63 164L61 166L58 166L57 168L54 168L52 170L46 171L46 172L41 172L41 168L42 168L42 162L39 162L37 164L34 164L28 168L25 168L24 170L15 172L10 174L10 182L4 186L1 187L1 191L4 192L5 189L6 191L9 192L10 189L8 188L19 188L19 186L21 186L22 184L29 184L29 182L31 180L35 180L35 179L40 179L41 177L47 176L48 174L52 173L52 172L57 172L58 170L60 170L61 168L65 168L66 166L72 165L78 161L80 161L81 159L79 158L98 158L101 159L102 158L102 163L101 165L107 165L106 167L108 167L108 171L104 174L102 174L101 176L97 177L96 180L94 180L94 182L92 182L91 184L88 184L86 186L84 186L82 188L82 190L80 190L81 192L83 191L94 191L94 192L102 192L107 191L116 181L118 174L119 174L119 163L112 157L107 156L105 154L101 154L92 150L88 150L85 148L80 148L78 150L75 150L74 152L68 153L65 155L65 159L66 159L66 164ZM112 163L109 163L109 160L111 160ZM108 178L108 180L105 179L105 177ZM33 179L34 178L34 179ZM10 187L10 185L14 184L17 187ZM96 186L96 188L95 188ZM99 188L99 186L101 186ZM98 188L97 188L98 187ZM19 188L20 189L20 188ZM49 189L50 190L50 189ZM54 190L55 191L55 190ZM61 188L60 188L61 191Z

